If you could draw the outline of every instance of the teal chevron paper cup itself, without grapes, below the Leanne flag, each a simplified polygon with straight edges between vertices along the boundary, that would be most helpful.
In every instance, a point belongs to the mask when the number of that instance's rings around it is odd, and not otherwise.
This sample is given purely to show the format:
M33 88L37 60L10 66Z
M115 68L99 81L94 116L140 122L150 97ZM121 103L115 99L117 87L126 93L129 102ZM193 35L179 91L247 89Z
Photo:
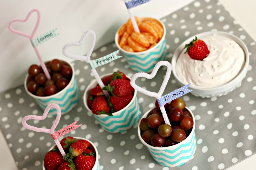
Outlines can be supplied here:
M56 103L60 106L61 108L61 114L66 114L69 111L71 111L78 103L79 101L79 89L77 86L77 82L75 79L75 70L74 67L72 66L71 63L69 63L68 61L65 61L66 63L68 63L70 65L70 67L72 68L73 71L73 75L72 78L68 84L67 87L65 87L63 90L61 90L60 92L51 95L51 96L37 96L34 95L32 93L30 93L27 89L27 78L28 75L25 78L25 90L26 92L35 99L36 103L39 105L39 107L44 111L46 109L46 107L50 104L50 103ZM49 111L49 115L57 115L57 110L55 108L52 108Z

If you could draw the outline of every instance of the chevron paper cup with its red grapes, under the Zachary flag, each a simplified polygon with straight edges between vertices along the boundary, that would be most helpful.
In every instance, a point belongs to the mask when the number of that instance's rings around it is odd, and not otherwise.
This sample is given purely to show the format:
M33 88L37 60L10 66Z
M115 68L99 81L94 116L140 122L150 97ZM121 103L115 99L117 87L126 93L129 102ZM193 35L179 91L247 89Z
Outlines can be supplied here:
M170 125L165 124L158 102L146 112L138 126L138 136L155 161L174 167L189 161L196 151L195 117L186 103L177 98L165 104Z

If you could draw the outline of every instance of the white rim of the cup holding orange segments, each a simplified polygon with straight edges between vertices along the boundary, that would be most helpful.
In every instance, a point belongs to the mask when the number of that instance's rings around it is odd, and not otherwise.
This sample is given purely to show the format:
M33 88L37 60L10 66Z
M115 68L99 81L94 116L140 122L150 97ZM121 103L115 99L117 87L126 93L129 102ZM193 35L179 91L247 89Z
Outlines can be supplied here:
M140 18L140 20L143 20L143 19L145 19L145 18L153 18L153 17L139 17ZM166 36L166 27L165 27L165 25L164 25L164 23L161 21L161 20L159 20L159 19L157 19L157 18L153 18L153 19L156 19L158 22L160 22L161 24L162 24L162 26L163 26L163 28L164 28L164 34L163 34L163 37L161 38L161 40L155 45L155 46L153 46L152 48L149 48L149 49L147 49L147 50L145 50L145 51L141 51L141 52L129 52L129 51L125 51L125 50L123 50L123 48L121 48L120 46L119 46L119 43L118 43L118 40L119 40L119 36L118 36L118 31L116 31L116 34L115 34L115 44L116 44L116 46L123 52L123 53L126 53L126 54L129 54L129 55L141 55L141 54L145 54L145 53L148 53L148 52L151 52L152 50L154 50L159 44L161 44L164 40L165 40L165 36ZM122 26L120 26L119 28L118 28L118 30L121 28Z

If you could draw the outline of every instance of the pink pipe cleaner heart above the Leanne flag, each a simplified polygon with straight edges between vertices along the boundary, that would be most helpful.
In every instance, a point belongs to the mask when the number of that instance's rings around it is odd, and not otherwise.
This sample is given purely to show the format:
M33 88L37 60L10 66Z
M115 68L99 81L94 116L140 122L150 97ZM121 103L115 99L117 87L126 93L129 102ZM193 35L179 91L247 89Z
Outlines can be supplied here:
M31 35L28 35L28 34L26 34L26 33L24 33L24 32L17 31L17 30L15 30L15 29L12 28L12 24L13 24L14 22L27 22L33 12L36 12L36 13L37 13L37 22L36 22L35 28L34 28L33 32L31 33ZM14 33L16 33L16 34L22 35L22 36L24 36L24 37L28 37L28 38L30 38L30 40L31 40L31 39L33 39L33 37L34 37L34 35L35 35L35 33L36 33L36 30L37 30L37 28L38 28L39 22L40 22L40 12L39 12L37 9L33 9L33 10L31 10L31 11L28 13L26 19L14 19L14 20L10 21L10 22L9 22L9 30L12 31L12 32L14 32Z

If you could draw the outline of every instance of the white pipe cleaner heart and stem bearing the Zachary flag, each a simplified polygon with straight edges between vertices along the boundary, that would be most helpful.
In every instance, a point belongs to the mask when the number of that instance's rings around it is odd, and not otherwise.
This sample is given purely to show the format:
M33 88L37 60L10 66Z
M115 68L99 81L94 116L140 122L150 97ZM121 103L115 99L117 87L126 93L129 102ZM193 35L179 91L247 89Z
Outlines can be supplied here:
M164 78L164 81L158 91L158 93L156 92L151 92L151 91L148 91L148 90L145 90L139 86L137 86L137 84L135 84L135 80L138 78L138 77L145 77L147 79L152 79L156 76L156 73L157 71L159 70L159 68L161 66L167 66L167 71L166 71L166 75L165 75L165 78ZM166 88L166 85L169 81L169 78L170 78L170 75L171 75L171 72L172 72L172 65L168 62L168 61L159 61L156 66L154 67L153 71L151 72L151 74L148 74L146 72L137 72L135 73L132 78L131 78L131 86L136 89L138 92L141 92L143 94L146 94L148 96L151 96L151 97L155 97L156 99L160 99L161 96L163 95L163 92ZM163 114L163 117L164 117L164 121L166 124L170 125L170 121L168 119L168 116L166 114L166 111L165 111L165 108L164 106L160 107L161 109L161 112Z

